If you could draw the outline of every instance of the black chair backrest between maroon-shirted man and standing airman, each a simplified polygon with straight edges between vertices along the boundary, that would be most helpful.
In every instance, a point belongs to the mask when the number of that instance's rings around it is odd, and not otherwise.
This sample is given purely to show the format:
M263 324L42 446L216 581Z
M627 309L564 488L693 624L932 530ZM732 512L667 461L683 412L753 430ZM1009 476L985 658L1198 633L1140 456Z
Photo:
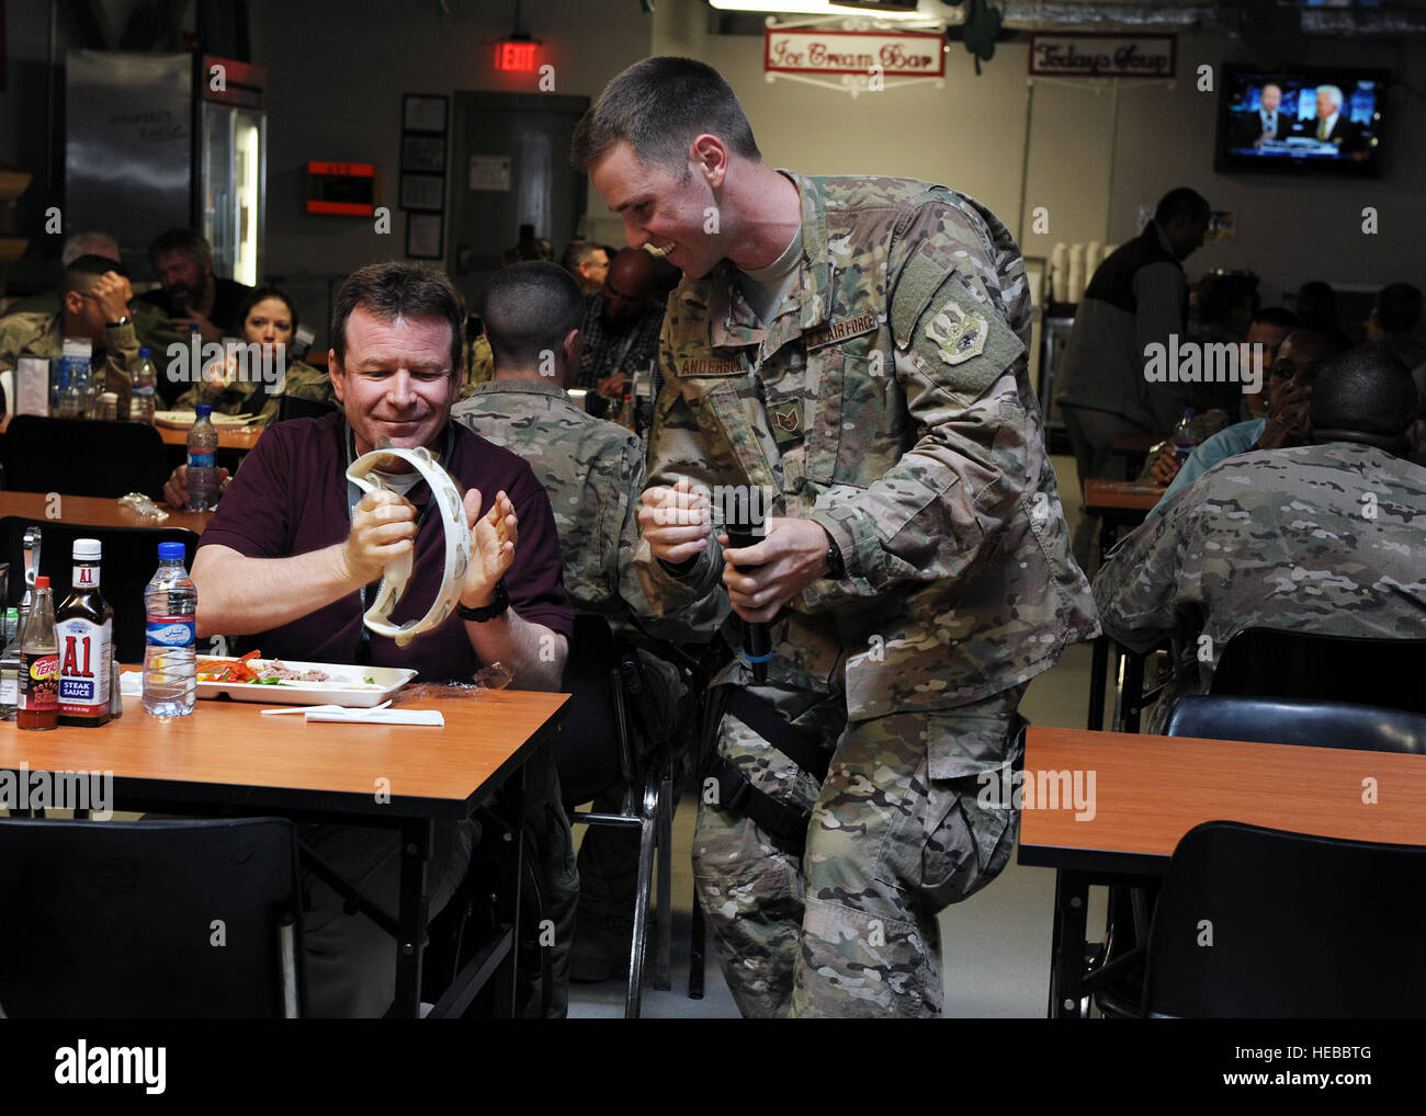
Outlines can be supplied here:
M610 678L619 666L617 654L605 617L575 616L575 636L560 681L560 688L573 697L550 737L560 794L570 805L590 801L623 773L619 698Z

